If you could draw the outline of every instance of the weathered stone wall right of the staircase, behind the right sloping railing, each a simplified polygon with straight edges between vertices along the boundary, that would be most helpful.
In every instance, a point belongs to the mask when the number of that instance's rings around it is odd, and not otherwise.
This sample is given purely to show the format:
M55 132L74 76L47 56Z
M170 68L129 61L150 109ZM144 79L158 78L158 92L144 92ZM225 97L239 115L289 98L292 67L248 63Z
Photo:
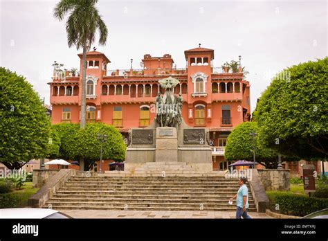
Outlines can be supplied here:
M265 190L290 190L289 170L262 169L257 171Z

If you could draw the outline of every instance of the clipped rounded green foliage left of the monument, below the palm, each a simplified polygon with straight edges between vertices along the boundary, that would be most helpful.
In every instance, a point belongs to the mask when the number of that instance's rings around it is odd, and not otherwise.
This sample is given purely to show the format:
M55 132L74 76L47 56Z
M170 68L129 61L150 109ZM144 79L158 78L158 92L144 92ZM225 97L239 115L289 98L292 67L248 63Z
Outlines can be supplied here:
M125 159L125 143L118 130L104 123L87 124L80 129L78 124L54 125L60 133L60 158L85 161L84 170L90 170L100 159L100 141L97 134L107 134L107 142L102 145L102 159L122 161Z

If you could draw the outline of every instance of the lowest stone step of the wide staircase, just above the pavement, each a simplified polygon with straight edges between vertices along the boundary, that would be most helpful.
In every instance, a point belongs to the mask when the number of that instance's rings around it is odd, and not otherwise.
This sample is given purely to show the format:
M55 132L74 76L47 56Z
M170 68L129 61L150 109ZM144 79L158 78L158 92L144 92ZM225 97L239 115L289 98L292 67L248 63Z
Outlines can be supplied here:
M48 208L48 206L45 206L45 208ZM119 211L119 210L125 210L124 206L57 206L53 205L53 209L57 210L111 210L111 211ZM190 207L131 207L128 206L127 210L131 211L236 211L236 206L230 205L229 207L219 207L219 208L208 208L203 207L200 208L190 208ZM255 208L249 208L249 212L256 212Z

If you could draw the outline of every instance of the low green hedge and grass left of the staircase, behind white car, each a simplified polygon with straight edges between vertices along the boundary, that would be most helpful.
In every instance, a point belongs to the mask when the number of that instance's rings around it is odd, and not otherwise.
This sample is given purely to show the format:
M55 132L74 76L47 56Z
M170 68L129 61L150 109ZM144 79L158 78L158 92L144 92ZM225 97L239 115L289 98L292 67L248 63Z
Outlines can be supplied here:
M21 190L0 194L0 208L24 208L28 205L28 199L37 193L39 188L33 188L32 182L25 182Z

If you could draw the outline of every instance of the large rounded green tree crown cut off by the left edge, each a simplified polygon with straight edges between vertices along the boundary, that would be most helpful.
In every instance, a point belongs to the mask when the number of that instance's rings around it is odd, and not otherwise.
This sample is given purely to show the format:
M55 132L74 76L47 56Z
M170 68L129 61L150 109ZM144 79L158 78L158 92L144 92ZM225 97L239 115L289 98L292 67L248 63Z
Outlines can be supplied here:
M26 79L0 68L0 161L19 169L45 157L50 121L37 93Z

